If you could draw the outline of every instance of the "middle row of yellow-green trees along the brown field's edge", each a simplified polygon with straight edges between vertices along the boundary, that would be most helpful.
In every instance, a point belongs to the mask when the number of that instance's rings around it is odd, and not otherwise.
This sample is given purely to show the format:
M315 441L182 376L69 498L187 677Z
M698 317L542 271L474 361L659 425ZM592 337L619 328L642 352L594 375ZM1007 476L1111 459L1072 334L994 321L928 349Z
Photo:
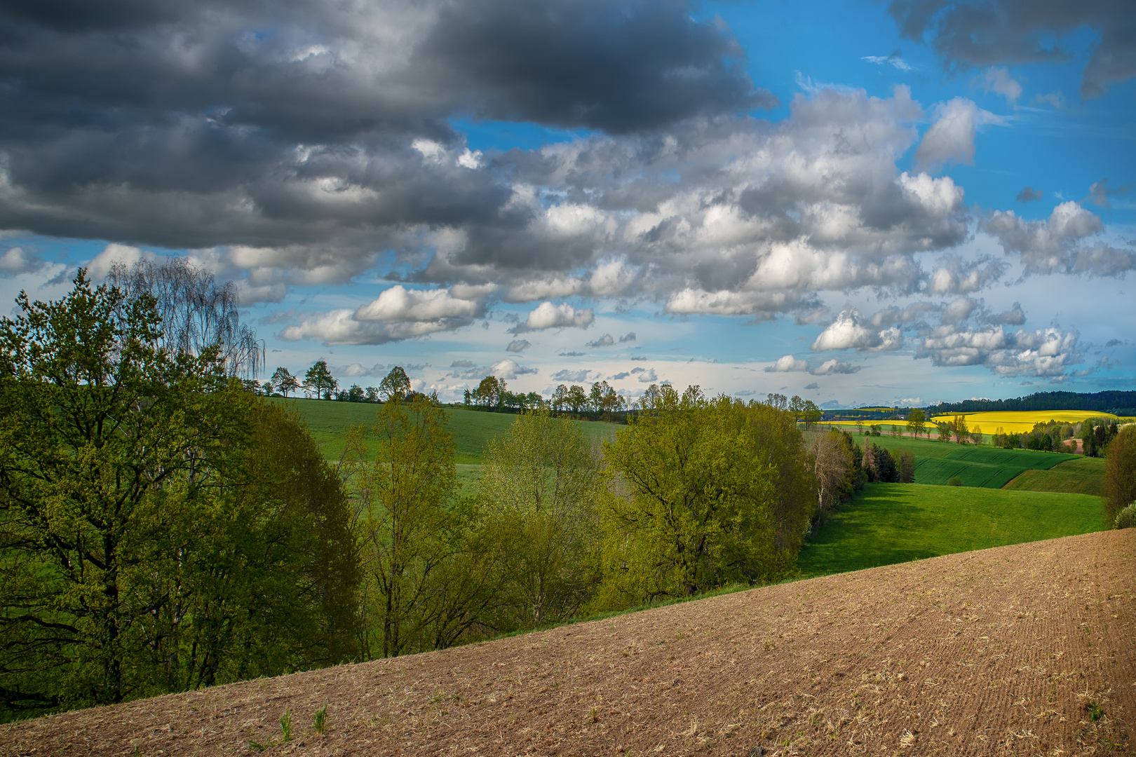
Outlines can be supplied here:
M356 429L342 470L361 513L364 656L792 574L818 504L792 415L698 387L648 397L602 448L551 407L519 414L466 495L436 403L387 403Z

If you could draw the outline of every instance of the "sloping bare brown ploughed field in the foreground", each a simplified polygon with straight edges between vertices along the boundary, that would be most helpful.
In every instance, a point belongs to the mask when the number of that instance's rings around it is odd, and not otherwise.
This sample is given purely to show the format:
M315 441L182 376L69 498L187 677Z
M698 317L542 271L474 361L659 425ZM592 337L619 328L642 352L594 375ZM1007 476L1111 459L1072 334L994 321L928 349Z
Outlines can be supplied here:
M1129 755L1134 567L1136 529L949 555L8 724L0 755Z

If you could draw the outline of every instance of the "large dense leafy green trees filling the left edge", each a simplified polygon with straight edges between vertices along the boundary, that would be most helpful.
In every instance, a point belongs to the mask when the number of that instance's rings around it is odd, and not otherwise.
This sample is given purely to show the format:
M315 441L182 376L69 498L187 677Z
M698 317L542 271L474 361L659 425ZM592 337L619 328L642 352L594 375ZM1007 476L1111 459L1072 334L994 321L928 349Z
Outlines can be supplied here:
M295 421L215 351L165 348L147 296L80 271L62 301L18 302L0 322L0 717L349 656L349 513Z

